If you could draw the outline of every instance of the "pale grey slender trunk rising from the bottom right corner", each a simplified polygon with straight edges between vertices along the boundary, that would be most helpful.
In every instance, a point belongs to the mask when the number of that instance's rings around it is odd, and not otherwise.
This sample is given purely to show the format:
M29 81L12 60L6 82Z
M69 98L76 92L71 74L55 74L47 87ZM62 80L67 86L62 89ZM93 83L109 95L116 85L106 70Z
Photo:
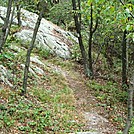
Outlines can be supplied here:
M134 74L132 76L132 80L130 80L130 85L128 89L128 116L123 134L128 134L129 129L131 127L131 121L133 118L133 94L134 94Z

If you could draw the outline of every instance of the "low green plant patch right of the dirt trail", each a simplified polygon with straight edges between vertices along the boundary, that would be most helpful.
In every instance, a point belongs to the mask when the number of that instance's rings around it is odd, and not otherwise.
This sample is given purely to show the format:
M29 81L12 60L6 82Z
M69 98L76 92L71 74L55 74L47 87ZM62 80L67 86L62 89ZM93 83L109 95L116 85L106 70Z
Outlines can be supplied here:
M113 82L99 84L95 81L90 81L88 86L94 89L94 94L98 100L105 102L106 105L114 105L117 102L127 102L127 92L118 88L118 85Z

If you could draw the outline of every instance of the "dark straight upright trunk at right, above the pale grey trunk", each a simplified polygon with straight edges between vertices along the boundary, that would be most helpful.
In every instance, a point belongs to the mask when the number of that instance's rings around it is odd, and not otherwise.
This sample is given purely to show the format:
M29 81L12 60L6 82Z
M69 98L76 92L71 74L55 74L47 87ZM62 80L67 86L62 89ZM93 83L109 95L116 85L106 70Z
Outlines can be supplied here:
M123 33L123 40L122 40L122 87L123 89L127 87L127 55L126 55L126 36L127 31L125 30Z

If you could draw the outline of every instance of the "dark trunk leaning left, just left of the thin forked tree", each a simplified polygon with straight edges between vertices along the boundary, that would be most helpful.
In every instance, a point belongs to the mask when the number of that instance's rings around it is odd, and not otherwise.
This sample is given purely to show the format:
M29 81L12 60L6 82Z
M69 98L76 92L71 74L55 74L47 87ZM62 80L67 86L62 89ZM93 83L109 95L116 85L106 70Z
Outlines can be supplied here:
M74 12L77 11L76 0L72 0L72 6L73 6ZM78 6L80 10L80 0L78 0ZM82 55L83 62L84 62L84 71L87 76L90 76L87 54L83 45L82 35L81 35L81 14L80 13L79 14L76 12L74 13L74 21L75 21L76 32L78 34L79 47L80 47L81 55Z

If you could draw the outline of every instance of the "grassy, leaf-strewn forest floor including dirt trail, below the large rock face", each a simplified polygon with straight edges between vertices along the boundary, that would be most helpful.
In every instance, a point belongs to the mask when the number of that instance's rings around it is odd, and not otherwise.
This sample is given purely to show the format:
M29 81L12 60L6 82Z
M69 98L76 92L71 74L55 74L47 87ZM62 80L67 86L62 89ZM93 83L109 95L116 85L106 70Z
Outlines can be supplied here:
M5 89L0 90L0 134L117 134L122 131L126 104L117 101L120 92L113 83L86 78L82 65L74 61L57 58L42 61L45 76L30 76L26 96L4 85ZM23 73L18 66L17 78L21 85L19 71Z

